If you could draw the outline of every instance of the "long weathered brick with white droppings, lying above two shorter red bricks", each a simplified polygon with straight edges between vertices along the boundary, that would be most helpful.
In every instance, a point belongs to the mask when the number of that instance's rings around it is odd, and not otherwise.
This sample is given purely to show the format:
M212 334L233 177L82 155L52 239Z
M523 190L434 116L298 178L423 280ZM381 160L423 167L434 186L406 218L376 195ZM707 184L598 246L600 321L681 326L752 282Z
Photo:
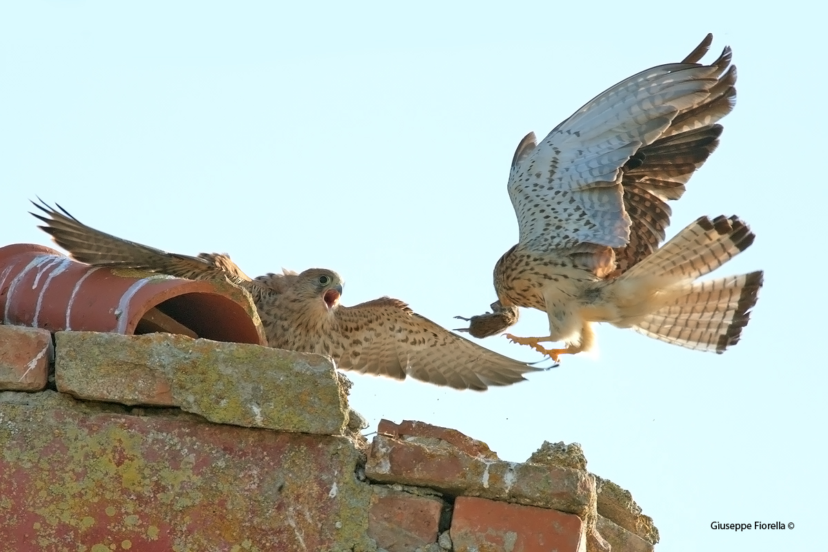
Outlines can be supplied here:
M477 458L445 441L428 444L376 435L365 474L377 482L430 487L585 515L595 507L595 479L560 466Z

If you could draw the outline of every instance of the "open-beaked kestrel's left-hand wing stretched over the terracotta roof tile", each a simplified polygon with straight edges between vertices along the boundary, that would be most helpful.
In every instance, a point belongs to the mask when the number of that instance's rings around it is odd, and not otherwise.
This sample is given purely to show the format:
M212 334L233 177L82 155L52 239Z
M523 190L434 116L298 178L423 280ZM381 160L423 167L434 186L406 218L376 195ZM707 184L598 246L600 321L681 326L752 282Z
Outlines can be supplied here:
M86 226L58 205L52 209L47 204L31 202L49 218L31 213L46 223L40 226L49 233L60 247L70 252L75 261L94 266L111 268L135 268L159 272L188 280L227 278L236 284L252 282L230 257L221 253L200 253L198 257L168 253L136 242L117 238Z

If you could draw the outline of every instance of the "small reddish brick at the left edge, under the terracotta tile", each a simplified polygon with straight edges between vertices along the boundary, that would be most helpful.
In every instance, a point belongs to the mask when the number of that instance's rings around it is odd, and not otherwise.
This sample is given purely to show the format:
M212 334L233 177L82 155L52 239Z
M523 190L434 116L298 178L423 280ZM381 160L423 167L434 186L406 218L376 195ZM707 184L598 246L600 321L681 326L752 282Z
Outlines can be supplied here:
M0 390L46 389L53 356L51 334L45 329L0 324Z

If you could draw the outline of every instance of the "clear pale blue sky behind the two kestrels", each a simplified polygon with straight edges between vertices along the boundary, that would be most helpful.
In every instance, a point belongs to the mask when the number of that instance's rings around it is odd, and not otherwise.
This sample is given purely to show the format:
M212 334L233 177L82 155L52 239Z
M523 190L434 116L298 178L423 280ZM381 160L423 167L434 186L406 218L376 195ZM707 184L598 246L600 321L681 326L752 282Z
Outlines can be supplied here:
M494 299L494 262L517 241L506 179L523 135L713 32L713 55L734 48L739 99L671 231L738 214L757 233L717 273L766 271L742 343L717 356L601 327L598 358L530 382L481 394L351 375L351 404L372 427L446 425L513 461L576 441L654 518L660 552L818 545L825 7L397 3L3 2L0 244L50 243L26 214L40 195L124 238L229 252L254 276L332 268L346 305L392 295L458 327ZM524 312L515 333L545 329Z

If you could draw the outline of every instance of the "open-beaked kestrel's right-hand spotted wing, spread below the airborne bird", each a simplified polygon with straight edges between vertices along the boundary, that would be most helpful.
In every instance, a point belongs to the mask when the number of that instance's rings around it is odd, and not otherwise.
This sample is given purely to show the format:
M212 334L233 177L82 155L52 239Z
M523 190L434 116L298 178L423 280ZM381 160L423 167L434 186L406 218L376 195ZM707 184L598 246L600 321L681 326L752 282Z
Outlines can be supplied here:
M452 334L390 297L339 307L336 319L350 344L339 358L346 370L478 391L521 382L538 370Z

